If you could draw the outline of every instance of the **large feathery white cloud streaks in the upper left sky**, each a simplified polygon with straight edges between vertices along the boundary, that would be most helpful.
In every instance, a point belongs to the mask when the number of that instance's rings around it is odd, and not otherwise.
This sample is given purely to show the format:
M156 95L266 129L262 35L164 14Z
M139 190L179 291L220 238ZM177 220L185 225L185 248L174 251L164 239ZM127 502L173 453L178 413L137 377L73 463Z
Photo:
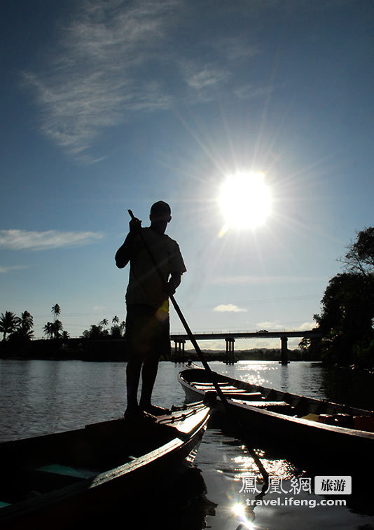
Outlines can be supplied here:
M125 6L117 0L85 1L55 45L48 69L25 72L42 109L42 130L71 154L85 151L102 128L126 111L165 109L169 100L156 79L142 71L163 40L175 0Z

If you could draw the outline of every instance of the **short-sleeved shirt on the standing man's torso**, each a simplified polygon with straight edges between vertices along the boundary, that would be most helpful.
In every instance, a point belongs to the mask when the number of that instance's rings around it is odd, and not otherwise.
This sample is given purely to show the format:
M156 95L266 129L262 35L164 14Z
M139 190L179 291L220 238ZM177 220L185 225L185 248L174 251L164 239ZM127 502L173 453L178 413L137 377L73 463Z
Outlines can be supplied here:
M158 265L158 270L140 236L134 238L130 257L130 277L126 292L127 304L145 304L160 308L167 300L165 286L172 273L186 272L179 245L166 234L160 235L150 228L142 228L141 234Z

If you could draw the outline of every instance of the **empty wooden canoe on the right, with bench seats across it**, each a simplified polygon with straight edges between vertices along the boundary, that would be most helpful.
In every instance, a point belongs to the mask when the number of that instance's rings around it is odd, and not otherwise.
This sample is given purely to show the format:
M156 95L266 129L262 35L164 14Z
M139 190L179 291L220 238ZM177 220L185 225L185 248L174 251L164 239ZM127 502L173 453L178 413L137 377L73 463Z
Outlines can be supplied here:
M256 386L216 374L216 380L228 400L226 413L219 397L212 416L235 426L253 441L282 449L285 455L307 460L335 459L373 466L374 413L338 405L326 400L291 394L274 388ZM216 393L209 374L200 367L179 373L179 382L188 400L204 399ZM232 416L235 421L232 422ZM343 466L344 467L344 466Z

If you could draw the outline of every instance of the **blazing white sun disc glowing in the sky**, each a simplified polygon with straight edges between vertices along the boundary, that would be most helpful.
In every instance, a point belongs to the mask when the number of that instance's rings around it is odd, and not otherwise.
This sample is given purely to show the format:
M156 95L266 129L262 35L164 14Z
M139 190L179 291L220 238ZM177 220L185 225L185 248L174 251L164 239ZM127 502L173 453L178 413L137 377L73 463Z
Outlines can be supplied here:
M271 212L271 196L263 172L230 175L221 185L219 206L228 229L256 229Z

